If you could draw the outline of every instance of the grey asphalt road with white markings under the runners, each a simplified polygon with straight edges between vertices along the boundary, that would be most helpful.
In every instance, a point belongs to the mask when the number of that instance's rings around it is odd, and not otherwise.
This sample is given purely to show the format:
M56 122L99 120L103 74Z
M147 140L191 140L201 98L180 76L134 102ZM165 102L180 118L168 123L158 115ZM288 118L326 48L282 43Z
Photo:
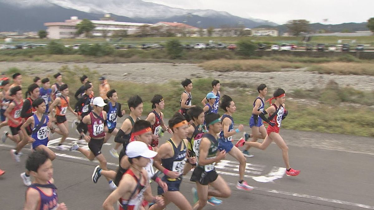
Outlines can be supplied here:
M118 120L119 126L122 121ZM1 129L1 133L5 129L8 128ZM250 129L247 126L245 130ZM232 196L223 199L220 206L207 205L205 209L374 209L373 138L293 130L281 130L281 135L289 145L291 166L301 170L299 176L285 176L281 150L275 144L265 151L251 149L255 157L247 158L245 179L255 189L241 191L234 186L239 176L239 163L228 155L217 166L217 172L232 185ZM70 130L69 136L71 139L67 140L67 144L71 145L77 133ZM88 161L77 151L53 149L58 143L53 139L59 137L55 134L49 145L57 154L53 161L53 177L59 201L70 210L102 209L101 205L111 191L104 178L92 183L91 175L97 163ZM165 135L160 143L165 142L167 137ZM9 139L4 144L0 143L0 168L6 170L0 177L0 209L3 210L22 209L27 189L19 175L25 170L30 146L22 150L25 155L20 163L10 156L9 151L14 146ZM102 153L107 158L108 167L114 170L118 160L109 154L113 146L111 138L107 145L103 145ZM185 176L181 192L192 203L191 188L195 184L189 181L190 175ZM152 188L156 193L156 185L152 184ZM171 204L166 209L177 207Z

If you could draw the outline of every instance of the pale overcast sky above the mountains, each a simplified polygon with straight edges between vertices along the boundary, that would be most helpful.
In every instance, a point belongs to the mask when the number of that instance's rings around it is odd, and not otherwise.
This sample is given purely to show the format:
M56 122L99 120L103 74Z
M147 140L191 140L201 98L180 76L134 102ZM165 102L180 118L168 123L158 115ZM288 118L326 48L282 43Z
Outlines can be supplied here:
M143 0L182 9L214 9L242 18L284 24L292 19L312 23L366 22L374 17L374 0ZM322 19L329 19L323 22Z

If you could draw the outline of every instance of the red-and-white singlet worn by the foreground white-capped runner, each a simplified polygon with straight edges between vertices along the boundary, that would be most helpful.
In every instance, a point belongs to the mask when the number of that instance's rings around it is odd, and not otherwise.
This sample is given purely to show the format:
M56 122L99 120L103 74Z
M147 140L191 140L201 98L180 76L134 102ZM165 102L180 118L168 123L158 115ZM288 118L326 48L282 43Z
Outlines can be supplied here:
M135 175L134 172L132 172L131 169L128 169L123 175L128 174L134 177L135 181L137 182L137 186L133 192L131 192L131 195L129 197L129 200L125 200L123 198L119 199L119 210L138 210L141 207L143 198L144 198L144 192L147 189L146 186L141 185L141 180L146 179L143 174L141 174L140 179L138 179ZM147 180L146 182L147 183ZM136 194L136 192L138 192ZM136 194L136 195L135 195Z

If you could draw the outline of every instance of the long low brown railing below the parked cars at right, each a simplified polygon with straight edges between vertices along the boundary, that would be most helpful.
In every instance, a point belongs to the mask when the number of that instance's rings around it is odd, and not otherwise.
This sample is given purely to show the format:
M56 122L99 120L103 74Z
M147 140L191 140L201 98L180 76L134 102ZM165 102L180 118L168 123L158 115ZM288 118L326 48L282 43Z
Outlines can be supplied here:
M243 53L236 51L235 55L243 55ZM256 51L254 56L297 56L297 57L313 57L313 58L323 58L323 57L337 57L341 55L352 55L359 59L374 59L374 52L341 52L341 51Z

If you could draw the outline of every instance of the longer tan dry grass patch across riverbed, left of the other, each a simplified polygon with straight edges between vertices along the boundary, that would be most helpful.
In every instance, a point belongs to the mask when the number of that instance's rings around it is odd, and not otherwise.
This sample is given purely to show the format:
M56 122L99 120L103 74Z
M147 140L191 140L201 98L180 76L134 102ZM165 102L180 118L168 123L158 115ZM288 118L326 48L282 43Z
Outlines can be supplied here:
M285 68L303 68L305 64L280 62L280 61L266 61L262 59L253 60L214 60L207 61L200 64L200 67L208 71L258 71L258 72L272 72L282 71Z

